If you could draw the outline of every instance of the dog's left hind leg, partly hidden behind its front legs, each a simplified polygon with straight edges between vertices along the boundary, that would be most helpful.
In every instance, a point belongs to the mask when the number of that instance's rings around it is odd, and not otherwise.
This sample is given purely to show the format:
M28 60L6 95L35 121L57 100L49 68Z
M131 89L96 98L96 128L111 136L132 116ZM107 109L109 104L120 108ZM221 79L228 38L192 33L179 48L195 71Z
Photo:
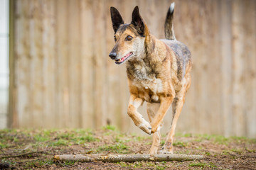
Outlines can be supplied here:
M146 103L146 113L149 116L150 122L153 120L154 115L156 115L156 112L159 110L159 107L160 107L160 103ZM161 123L160 128L162 125L163 123ZM153 142L149 150L149 154L157 154L157 150L159 149L160 140L161 140L160 128L153 133Z

